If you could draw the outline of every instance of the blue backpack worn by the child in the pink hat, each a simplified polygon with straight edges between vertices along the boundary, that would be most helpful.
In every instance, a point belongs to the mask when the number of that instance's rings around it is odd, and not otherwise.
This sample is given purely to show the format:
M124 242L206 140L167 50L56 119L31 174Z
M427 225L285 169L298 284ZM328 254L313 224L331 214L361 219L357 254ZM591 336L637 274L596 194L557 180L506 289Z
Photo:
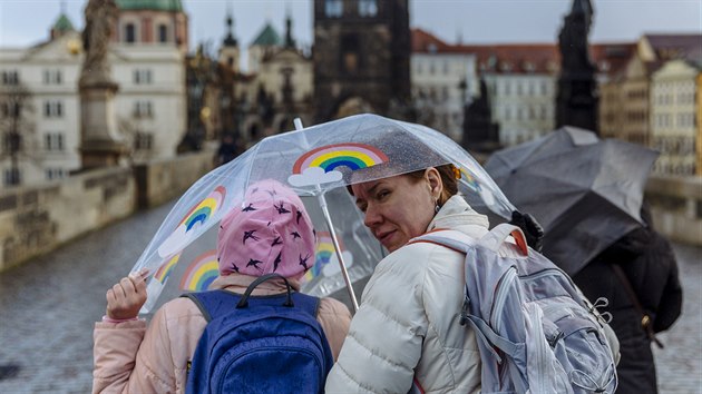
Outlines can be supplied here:
M271 278L287 292L251 296ZM334 361L316 321L320 299L291 290L279 274L254 280L243 295L185 294L208 324L188 368L186 393L323 393Z

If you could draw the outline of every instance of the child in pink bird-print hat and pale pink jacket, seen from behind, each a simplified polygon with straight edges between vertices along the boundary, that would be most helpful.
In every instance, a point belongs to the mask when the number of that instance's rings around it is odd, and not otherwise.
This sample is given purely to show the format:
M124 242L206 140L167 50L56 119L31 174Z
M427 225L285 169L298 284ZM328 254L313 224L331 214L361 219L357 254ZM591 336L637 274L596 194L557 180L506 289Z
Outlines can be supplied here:
M314 264L312 221L293 190L275 180L246 190L241 208L221 223L220 276L211 289L243 294L257 277L276 273L299 290L299 278ZM254 296L285 292L283 280L266 280ZM96 323L92 392L183 393L186 372L207 322L188 298L164 304L152 322L137 318L146 302L142 277L125 277L107 292L107 314ZM351 314L342 303L322 298L316 319L334 359L349 331Z

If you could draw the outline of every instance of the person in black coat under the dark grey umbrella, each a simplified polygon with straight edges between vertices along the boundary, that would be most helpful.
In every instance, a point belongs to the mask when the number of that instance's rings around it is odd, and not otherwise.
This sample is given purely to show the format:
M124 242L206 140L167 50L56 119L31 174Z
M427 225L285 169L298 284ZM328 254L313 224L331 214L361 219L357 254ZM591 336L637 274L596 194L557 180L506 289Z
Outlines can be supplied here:
M642 217L651 224L647 209L642 209ZM620 277L614 265L622 268L626 279ZM650 225L635 229L595 257L573 279L591 301L605 297L610 302L599 311L612 314L610 326L620 339L622 358L617 365L616 393L657 393L651 342L660 342L653 334L670 328L682 309L682 287L670 243Z

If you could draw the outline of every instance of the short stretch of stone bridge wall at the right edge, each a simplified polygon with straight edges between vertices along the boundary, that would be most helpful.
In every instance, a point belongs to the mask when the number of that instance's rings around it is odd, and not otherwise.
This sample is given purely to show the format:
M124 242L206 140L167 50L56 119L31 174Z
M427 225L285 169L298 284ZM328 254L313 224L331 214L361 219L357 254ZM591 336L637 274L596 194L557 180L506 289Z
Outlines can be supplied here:
M651 177L646 199L661 234L671 240L702 246L702 177Z

